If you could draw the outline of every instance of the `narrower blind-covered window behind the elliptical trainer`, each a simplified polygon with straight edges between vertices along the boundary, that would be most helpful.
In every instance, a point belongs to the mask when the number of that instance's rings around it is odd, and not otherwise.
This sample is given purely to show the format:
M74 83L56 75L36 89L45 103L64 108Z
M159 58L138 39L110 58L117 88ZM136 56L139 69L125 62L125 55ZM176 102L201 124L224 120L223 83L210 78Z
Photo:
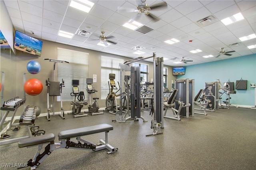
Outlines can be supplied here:
M119 63L124 63L124 60L117 59L113 57L106 57L101 56L101 98L102 100L106 100L109 93L109 74L114 73L116 74L115 82L116 86L118 87L118 82L120 82L120 70L119 70Z

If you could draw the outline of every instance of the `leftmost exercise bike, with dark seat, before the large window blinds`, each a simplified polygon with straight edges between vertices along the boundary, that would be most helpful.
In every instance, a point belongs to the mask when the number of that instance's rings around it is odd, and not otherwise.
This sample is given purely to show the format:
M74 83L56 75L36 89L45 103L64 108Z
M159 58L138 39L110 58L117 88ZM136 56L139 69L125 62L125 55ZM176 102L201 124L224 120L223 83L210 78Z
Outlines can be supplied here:
M73 92L70 93L70 96L74 96L74 102L71 102L70 104L72 105L72 114L75 114L74 117L82 117L82 116L87 116L88 114L81 113L82 107L84 105L87 105L87 102L84 101L84 92L79 92L79 80L72 80L72 86L73 86ZM76 99L79 102L76 102Z

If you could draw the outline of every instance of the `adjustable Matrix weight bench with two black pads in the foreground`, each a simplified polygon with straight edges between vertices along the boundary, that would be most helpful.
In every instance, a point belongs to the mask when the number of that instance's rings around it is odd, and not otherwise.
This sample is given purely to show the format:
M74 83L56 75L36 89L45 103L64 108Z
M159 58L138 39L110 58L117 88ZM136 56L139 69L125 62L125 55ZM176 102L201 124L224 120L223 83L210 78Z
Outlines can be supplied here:
M28 166L31 166L31 170L34 170L54 150L61 149L61 148L84 149L84 150L93 150L93 151L108 149L109 150L108 154L114 153L115 151L118 150L118 148L114 148L108 144L108 132L111 130L113 130L113 126L108 124L100 124L100 125L82 127L78 129L71 129L71 130L61 131L60 133L58 133L58 137L60 140L59 143L54 143L55 136L54 134L50 133L46 135L24 139L18 143L18 147L19 148L34 147L38 145L38 151L36 152L36 155L34 156L33 159L30 159L27 164ZM81 139L82 136L92 135L92 134L101 133L101 132L105 132L105 141L100 139L99 145L94 145L93 143L90 143L88 141L85 141L84 139ZM70 141L70 139L72 138L76 138L78 143ZM83 142L83 144L80 141ZM40 150L43 148L44 144L47 144L47 146L44 148L44 152L40 154Z

